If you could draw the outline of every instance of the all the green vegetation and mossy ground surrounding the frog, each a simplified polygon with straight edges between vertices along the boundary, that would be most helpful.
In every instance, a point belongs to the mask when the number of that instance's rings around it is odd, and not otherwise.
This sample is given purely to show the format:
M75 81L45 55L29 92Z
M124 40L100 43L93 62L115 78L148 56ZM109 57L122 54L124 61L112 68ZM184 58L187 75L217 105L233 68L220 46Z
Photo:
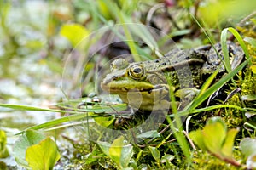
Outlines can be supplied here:
M0 3L0 169L256 169L256 2L63 2ZM235 69L228 41L245 54ZM136 110L100 87L120 56L216 42L226 73L183 110Z

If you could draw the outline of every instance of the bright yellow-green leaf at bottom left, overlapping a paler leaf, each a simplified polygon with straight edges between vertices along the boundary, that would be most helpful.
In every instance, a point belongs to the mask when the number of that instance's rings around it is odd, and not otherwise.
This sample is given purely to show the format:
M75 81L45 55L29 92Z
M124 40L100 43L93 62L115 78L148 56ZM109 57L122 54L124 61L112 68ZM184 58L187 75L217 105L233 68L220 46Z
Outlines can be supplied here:
M35 170L53 169L55 163L61 158L55 142L50 137L34 144L26 150L26 161L29 167Z

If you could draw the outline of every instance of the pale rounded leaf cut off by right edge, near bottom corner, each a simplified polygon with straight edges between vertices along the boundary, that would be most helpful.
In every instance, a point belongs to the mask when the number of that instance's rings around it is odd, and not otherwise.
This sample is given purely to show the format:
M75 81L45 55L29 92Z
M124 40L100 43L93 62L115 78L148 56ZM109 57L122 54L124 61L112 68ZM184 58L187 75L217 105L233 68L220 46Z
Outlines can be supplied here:
M245 156L251 156L256 154L256 139L244 138L240 143L241 152Z

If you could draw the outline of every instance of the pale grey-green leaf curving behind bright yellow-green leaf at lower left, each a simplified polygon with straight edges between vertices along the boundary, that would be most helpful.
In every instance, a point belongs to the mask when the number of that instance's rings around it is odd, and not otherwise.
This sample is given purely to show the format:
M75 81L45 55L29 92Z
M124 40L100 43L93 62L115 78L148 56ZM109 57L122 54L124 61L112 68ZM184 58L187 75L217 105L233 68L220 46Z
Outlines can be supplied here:
M43 134L33 130L27 130L25 133L23 133L20 136L20 139L15 142L13 153L13 156L15 156L15 161L19 163L20 166L29 168L26 162L26 149L33 144L38 144L44 138L45 137Z

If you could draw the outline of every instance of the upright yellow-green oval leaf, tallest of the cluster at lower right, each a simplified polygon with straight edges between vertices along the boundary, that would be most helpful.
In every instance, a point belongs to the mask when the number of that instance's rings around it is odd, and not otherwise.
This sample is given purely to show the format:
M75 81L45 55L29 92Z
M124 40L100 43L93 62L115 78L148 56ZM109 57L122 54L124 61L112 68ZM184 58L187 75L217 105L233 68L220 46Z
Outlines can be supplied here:
M226 125L220 117L213 117L207 122L207 125L202 130L202 134L204 144L210 152L221 156L221 148L224 143L226 132Z

